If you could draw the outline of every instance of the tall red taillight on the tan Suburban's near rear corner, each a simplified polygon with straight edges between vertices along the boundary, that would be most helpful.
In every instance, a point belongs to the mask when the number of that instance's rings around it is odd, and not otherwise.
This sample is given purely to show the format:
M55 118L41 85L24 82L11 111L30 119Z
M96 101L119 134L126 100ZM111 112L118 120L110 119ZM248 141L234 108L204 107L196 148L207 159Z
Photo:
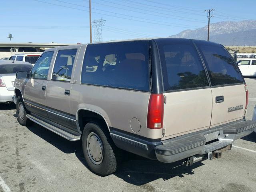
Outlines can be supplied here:
M151 94L148 103L147 127L150 129L163 128L164 95Z

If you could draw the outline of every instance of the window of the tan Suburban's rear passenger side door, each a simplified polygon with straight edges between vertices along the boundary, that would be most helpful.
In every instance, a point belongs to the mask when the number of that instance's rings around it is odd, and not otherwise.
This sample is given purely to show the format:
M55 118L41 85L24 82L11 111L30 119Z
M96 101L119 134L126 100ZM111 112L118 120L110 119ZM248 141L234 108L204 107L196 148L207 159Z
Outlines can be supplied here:
M77 49L58 51L52 72L52 80L70 82L76 52Z

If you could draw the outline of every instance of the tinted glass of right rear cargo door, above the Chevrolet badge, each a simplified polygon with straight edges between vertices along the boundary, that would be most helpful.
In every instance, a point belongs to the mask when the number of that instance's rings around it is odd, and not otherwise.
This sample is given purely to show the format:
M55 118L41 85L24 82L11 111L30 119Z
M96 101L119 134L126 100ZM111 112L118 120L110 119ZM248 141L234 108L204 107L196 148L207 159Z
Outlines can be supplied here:
M196 42L212 86L243 83L242 75L228 51L220 44Z

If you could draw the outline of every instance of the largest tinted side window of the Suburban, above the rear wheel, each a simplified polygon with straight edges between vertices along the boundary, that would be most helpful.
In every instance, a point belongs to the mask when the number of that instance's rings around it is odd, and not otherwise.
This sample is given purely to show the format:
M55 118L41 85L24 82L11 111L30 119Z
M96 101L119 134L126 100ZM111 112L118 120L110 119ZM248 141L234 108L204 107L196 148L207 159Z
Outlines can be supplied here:
M148 41L88 45L81 82L149 91Z

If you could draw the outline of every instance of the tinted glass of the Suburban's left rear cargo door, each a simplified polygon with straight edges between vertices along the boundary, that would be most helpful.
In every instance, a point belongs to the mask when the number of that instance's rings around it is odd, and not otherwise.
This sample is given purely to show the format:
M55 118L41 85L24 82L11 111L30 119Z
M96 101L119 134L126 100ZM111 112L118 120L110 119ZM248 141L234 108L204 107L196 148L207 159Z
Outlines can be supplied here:
M193 44L159 44L164 90L182 90L209 86L206 72Z

